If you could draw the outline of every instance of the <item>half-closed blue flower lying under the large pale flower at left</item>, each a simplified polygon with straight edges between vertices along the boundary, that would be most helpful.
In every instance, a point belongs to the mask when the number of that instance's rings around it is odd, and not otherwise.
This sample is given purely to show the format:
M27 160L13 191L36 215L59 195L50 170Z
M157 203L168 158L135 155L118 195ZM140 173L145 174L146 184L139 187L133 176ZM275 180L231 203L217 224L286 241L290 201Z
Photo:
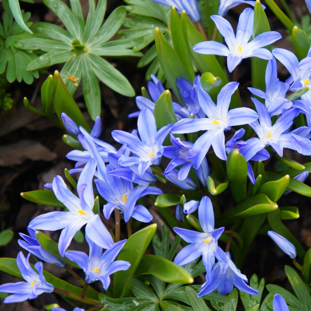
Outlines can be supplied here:
M49 263L54 263L58 265L59 267L64 267L65 262L63 260L60 260L59 258L53 256L49 252L47 252L37 241L36 239L36 230L30 228L29 226L27 227L27 230L29 232L29 235L20 233L20 236L25 240L19 239L17 242L19 246L22 248L26 249L28 252L32 253L39 259L49 262Z

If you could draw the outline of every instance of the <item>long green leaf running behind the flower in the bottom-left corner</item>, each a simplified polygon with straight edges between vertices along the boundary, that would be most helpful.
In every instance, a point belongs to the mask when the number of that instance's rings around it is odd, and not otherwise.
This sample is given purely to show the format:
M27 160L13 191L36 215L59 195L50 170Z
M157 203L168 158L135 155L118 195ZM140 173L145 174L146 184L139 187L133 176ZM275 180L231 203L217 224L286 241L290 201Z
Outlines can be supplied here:
M30 266L34 268L33 264L30 264ZM22 279L22 276L17 267L15 258L0 258L0 270ZM45 280L48 283L52 284L54 288L67 291L68 294L65 295L67 298L74 299L74 300L80 300L81 302L84 302L86 304L91 304L91 305L97 305L100 303L100 301L97 300L97 294L91 292L90 290L86 290L86 294L85 294L86 297L81 299L80 295L82 293L82 288L71 285L67 283L66 281L63 281L57 278L56 276L53 276L52 274L50 274L49 272L45 270L43 270L43 275L45 277Z

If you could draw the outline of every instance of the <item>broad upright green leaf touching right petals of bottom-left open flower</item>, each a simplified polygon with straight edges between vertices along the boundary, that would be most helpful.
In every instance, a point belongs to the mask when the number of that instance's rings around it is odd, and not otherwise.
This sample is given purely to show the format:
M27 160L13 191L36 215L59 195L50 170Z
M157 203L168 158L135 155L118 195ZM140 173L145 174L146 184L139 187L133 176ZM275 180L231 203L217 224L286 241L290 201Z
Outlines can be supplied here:
M131 290L133 275L142 259L154 233L156 224L152 224L132 234L124 244L118 260L126 260L131 266L126 271L118 271L114 275L114 297L124 297Z

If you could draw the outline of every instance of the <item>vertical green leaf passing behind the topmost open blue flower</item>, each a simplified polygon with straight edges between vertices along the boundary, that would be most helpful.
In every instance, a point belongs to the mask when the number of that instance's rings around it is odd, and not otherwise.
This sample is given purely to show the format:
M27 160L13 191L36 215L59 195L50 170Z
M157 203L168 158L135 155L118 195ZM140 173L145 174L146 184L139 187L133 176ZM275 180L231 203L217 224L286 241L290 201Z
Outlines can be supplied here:
M270 31L269 21L261 2L257 0L254 7L253 38L266 31ZM271 50L270 46L267 48ZM268 61L258 57L252 57L251 62L252 86L256 89L266 91L265 74Z

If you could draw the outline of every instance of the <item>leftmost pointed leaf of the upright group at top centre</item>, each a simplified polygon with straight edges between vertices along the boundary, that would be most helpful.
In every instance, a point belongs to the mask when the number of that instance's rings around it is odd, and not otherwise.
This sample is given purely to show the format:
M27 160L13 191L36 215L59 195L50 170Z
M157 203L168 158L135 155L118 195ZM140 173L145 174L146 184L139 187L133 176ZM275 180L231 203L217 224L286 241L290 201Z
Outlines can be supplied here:
M174 93L181 98L179 89L176 84L178 77L191 81L183 63L177 56L174 49L162 34L159 28L155 30L156 50L160 61L161 68L165 74L166 80L171 86Z

